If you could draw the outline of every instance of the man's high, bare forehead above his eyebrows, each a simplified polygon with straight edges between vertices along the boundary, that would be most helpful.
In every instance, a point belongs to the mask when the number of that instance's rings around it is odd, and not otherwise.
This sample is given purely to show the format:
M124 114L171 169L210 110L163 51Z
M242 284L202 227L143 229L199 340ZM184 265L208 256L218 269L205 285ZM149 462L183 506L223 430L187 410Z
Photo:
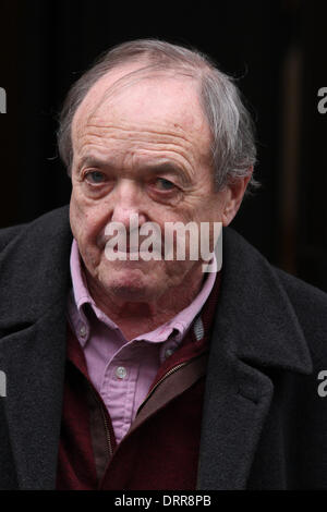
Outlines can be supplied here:
M190 74L153 72L140 62L110 71L90 88L74 115L73 139L89 126L175 132L202 144L210 138L198 82Z

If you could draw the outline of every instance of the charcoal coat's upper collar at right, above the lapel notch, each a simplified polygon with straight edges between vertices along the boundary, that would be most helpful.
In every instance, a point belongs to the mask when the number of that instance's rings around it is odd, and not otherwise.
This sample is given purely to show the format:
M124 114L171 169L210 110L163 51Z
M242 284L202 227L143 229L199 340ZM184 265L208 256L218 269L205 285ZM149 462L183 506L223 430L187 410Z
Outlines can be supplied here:
M304 333L277 270L232 229L223 230L222 247L216 338L254 366L311 373Z

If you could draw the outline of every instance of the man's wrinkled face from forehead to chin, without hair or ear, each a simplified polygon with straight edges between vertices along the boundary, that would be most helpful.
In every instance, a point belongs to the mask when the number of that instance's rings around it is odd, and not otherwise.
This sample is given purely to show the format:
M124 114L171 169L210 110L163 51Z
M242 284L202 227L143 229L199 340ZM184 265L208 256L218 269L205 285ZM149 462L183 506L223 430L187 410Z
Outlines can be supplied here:
M164 233L166 222L220 221L222 208L195 82L161 75L110 89L134 70L135 63L101 78L72 129L72 231L92 288L118 302L157 301L183 282L199 282L202 261L108 260L109 222L128 228L137 214L140 224L156 222Z

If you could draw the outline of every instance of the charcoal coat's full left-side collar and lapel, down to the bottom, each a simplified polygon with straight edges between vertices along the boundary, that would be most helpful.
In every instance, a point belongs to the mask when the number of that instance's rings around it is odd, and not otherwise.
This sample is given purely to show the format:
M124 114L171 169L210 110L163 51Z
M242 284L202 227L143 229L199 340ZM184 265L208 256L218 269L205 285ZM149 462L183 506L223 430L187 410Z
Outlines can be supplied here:
M21 489L56 486L71 240L63 208L23 228L1 254L2 400Z

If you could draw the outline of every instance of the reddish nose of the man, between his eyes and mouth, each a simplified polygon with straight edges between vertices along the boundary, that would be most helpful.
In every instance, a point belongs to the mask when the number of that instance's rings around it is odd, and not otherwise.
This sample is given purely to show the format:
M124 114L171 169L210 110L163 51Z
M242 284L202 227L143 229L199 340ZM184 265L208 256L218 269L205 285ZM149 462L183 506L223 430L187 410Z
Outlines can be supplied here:
M132 180L121 180L117 185L111 222L121 222L128 229L131 216L138 216L140 227L146 221L143 194Z

